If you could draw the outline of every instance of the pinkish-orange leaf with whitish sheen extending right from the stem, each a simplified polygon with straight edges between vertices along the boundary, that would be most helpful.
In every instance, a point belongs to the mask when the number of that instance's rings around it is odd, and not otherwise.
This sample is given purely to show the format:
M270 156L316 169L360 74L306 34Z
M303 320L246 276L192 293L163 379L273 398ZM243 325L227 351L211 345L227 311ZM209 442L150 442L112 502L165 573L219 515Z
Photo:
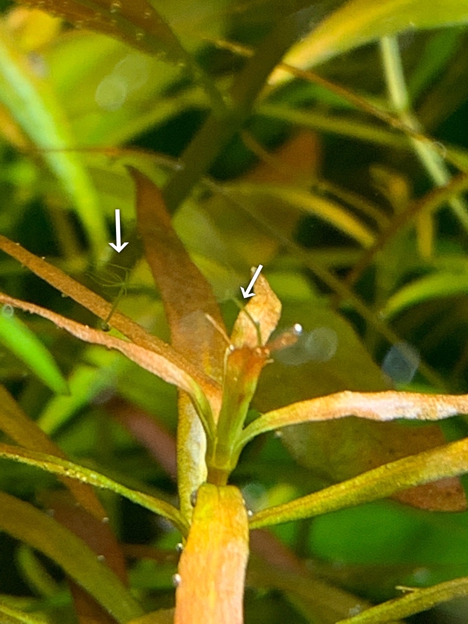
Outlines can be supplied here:
M468 394L345 390L293 403L260 416L246 427L241 444L246 444L260 433L300 422L326 421L344 416L359 416L373 421L392 421L397 418L437 421L456 414L468 414Z

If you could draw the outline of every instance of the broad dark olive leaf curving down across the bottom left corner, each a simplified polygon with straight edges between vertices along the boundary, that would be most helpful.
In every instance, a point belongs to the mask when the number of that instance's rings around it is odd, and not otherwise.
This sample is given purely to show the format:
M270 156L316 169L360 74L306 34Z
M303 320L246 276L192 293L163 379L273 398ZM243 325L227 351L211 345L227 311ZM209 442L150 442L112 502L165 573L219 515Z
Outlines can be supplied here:
M71 531L29 503L0 492L0 529L50 557L89 592L117 622L142 610L106 565Z

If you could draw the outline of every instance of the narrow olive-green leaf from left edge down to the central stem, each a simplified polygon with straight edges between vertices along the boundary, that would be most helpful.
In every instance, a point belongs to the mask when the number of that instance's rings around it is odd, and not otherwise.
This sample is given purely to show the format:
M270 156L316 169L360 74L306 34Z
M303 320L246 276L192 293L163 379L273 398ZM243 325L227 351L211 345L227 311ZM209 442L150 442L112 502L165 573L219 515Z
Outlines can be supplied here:
M135 502L137 505L141 505L155 514L162 515L170 520L170 522L172 522L172 524L180 530L182 535L187 534L187 523L175 507L163 500L155 499L154 496L125 487L125 485L121 485L114 480L109 479L109 477L99 474L99 472L96 472L95 470L79 466L78 464L69 462L66 459L61 459L61 457L55 457L53 455L37 451L29 451L27 449L22 449L21 447L1 443L0 457L12 459L14 461L21 462L22 464L29 464L29 466L36 466L37 468L41 468L42 470L46 470L46 472L51 472L57 476L77 479L82 483L94 485L100 489L110 490L111 492L115 492L115 494L120 494L124 498Z

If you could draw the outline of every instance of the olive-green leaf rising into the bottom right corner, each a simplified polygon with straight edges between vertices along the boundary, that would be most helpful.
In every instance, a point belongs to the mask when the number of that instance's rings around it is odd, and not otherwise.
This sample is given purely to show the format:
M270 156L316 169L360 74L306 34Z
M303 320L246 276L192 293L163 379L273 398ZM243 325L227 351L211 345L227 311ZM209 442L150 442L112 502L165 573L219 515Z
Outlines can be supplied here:
M384 602L377 607L366 609L362 613L336 624L384 624L394 622L396 618L406 618L414 613L426 611L434 605L454 598L468 595L468 578L455 578L433 587L414 587L401 598Z

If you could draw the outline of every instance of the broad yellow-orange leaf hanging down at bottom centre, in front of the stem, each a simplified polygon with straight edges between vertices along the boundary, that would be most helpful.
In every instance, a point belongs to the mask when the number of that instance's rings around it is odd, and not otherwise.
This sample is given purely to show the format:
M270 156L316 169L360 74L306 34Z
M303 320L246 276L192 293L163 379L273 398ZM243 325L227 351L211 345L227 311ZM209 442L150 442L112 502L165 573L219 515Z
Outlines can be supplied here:
M247 558L247 512L240 490L202 485L178 565L174 624L241 624Z

